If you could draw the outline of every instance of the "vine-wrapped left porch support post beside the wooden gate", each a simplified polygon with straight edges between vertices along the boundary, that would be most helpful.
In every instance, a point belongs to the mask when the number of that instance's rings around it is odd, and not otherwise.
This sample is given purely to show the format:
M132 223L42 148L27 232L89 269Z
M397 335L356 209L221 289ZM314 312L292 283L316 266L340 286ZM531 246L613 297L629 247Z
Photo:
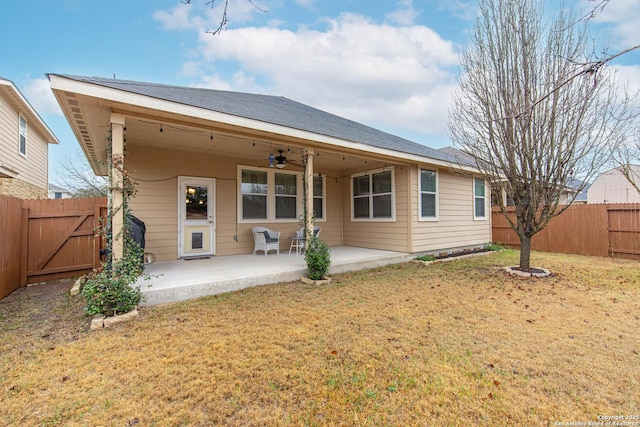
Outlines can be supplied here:
M122 259L124 253L124 206L122 171L124 167L124 115L111 113L111 235L112 260ZM115 165L115 167L114 167Z

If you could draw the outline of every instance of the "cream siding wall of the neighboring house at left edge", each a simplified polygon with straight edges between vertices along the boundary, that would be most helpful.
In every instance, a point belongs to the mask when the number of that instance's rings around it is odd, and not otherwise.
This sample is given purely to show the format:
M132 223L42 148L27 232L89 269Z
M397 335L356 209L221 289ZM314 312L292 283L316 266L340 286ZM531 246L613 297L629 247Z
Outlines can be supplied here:
M0 92L1 93L1 92ZM19 116L27 121L27 155L18 149ZM0 96L0 166L16 172L16 179L47 190L49 146L26 112Z

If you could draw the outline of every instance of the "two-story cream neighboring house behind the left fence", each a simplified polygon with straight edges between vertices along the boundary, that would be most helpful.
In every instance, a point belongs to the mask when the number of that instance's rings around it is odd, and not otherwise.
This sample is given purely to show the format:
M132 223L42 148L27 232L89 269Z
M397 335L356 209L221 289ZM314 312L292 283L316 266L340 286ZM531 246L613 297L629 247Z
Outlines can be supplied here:
M58 143L13 82L0 77L0 194L47 198L49 144Z

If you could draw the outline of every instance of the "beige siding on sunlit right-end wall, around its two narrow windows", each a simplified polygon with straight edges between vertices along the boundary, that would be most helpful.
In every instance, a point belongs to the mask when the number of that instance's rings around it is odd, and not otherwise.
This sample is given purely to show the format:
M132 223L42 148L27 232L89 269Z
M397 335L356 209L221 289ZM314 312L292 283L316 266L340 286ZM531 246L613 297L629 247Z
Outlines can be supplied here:
M425 167L434 169L432 167ZM420 221L418 168L411 168L413 204L413 251L430 252L480 246L491 241L490 193L486 187L485 220L474 220L473 178L438 170L438 219Z

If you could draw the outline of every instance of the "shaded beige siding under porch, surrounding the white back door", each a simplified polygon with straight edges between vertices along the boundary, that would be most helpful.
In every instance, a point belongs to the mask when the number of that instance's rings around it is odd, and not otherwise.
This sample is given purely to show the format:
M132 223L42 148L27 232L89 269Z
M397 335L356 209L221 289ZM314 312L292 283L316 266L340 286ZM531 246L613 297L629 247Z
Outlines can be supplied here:
M146 251L158 261L178 258L178 176L215 179L216 255L253 252L251 228L262 225L280 231L280 250L289 250L289 236L300 228L297 220L287 222L238 222L237 165L251 164L241 158L219 157L210 153L156 150L130 144L126 167L138 181L138 192L131 202L133 214L145 222ZM287 170L294 170L287 168ZM330 246L342 244L339 172L326 173L327 218L316 225ZM236 238L237 236L237 238Z

